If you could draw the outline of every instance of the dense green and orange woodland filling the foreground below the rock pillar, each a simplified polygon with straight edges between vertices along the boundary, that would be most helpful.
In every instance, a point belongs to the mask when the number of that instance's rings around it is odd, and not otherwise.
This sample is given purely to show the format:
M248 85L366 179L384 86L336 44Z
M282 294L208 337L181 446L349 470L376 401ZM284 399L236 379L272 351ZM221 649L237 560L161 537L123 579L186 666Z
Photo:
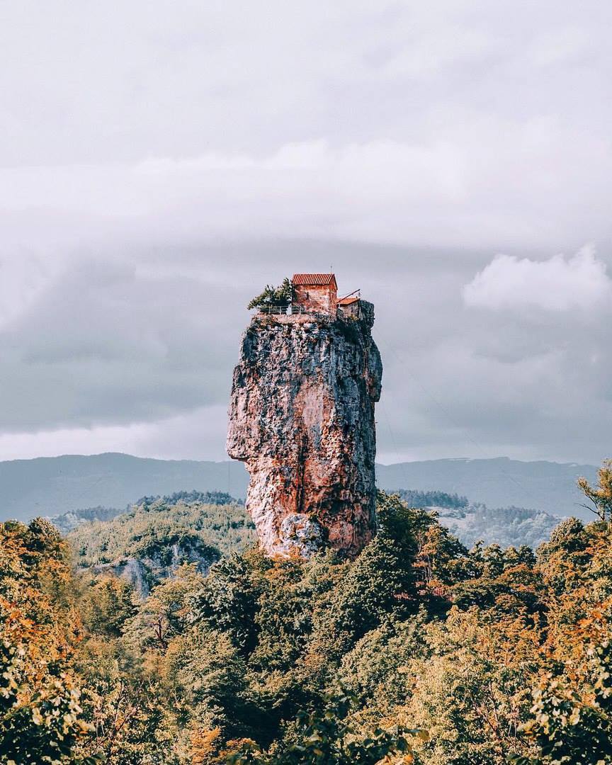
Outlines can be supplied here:
M381 493L354 561L227 551L145 599L6 522L2 762L612 763L612 464L581 488L535 554Z

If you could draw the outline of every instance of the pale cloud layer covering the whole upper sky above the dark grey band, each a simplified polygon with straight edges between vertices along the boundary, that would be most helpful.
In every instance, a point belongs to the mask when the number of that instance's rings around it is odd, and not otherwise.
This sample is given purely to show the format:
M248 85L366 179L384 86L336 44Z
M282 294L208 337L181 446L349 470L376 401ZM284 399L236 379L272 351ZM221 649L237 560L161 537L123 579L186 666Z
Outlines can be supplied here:
M265 236L554 252L612 235L601 0L134 0L70 24L61 0L3 5L15 252Z

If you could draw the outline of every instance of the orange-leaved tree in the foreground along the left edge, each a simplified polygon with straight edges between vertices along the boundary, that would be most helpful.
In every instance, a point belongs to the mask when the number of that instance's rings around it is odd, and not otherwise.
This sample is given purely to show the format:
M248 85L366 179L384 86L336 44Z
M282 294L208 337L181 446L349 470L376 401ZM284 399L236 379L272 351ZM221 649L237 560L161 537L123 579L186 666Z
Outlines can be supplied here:
M70 658L80 622L67 546L45 519L0 524L0 751L6 763L75 761L90 727Z

